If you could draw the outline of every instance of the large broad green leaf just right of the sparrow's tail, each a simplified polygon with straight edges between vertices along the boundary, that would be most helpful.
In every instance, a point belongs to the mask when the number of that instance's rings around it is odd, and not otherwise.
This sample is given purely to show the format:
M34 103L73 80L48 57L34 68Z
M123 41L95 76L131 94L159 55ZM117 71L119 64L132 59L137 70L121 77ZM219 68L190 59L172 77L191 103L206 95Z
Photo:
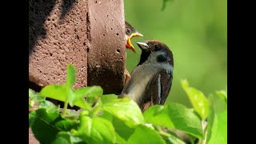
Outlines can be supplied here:
M201 120L190 109L178 103L170 103L165 106L150 106L144 112L146 122L158 126L166 126L182 130L197 138L202 138Z

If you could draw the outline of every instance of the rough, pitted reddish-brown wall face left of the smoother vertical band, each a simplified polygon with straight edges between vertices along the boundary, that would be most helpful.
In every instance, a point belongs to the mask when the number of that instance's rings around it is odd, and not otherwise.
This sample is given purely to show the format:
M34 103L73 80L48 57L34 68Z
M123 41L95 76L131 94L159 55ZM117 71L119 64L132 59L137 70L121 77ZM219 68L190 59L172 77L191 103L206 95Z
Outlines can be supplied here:
M29 78L38 86L64 83L66 65L78 69L75 87L87 80L86 1L30 1Z

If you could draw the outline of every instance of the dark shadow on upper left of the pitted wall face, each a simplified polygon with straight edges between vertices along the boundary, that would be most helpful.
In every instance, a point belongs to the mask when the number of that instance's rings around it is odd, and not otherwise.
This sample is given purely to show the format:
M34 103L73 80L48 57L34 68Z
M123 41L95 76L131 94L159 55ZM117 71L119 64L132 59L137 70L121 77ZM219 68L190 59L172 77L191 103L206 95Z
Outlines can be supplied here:
M62 0L61 19L70 11L77 0ZM38 38L46 37L44 22L56 5L56 0L30 0L29 2L29 55Z

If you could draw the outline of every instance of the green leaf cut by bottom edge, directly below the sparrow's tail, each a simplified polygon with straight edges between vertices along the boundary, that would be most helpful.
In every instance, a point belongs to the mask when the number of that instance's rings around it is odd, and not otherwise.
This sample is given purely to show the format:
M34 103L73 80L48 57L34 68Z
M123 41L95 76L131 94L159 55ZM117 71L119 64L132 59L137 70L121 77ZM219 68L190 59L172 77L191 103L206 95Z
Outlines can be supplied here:
M152 130L147 126L136 126L134 134L132 134L128 140L128 143L140 143L140 144L154 144L154 143L166 143L156 130Z

